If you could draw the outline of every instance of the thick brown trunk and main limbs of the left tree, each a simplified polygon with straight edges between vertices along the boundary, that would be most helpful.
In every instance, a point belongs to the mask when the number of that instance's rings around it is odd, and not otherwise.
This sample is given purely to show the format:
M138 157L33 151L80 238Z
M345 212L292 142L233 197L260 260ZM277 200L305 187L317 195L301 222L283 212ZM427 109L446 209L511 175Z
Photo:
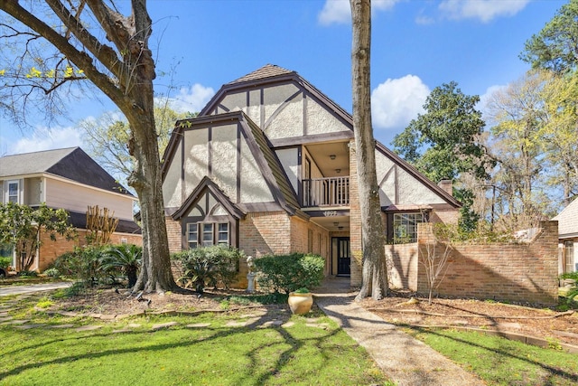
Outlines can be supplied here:
M61 0L45 2L66 28L52 28L16 1L0 1L0 9L51 42L125 114L131 130L129 153L135 157L135 171L129 184L138 195L143 224L143 268L133 289L147 292L178 289L172 278L164 223L160 157L154 127L154 60L148 48L152 21L146 11L146 0L133 0L130 16L119 14L114 2L109 3L110 7L101 0L85 0L79 9ZM98 41L82 24L84 5L92 12L91 27L99 24L107 42ZM70 39L70 34L76 39ZM77 39L78 47L73 45ZM109 42L114 47L109 46Z

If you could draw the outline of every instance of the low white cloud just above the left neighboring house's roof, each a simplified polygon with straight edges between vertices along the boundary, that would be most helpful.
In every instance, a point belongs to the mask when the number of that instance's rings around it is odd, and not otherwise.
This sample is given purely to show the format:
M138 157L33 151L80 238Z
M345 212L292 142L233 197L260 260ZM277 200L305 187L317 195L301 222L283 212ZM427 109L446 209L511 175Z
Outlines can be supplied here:
M20 138L11 146L12 154L81 146L81 130L75 127L38 127L31 137Z

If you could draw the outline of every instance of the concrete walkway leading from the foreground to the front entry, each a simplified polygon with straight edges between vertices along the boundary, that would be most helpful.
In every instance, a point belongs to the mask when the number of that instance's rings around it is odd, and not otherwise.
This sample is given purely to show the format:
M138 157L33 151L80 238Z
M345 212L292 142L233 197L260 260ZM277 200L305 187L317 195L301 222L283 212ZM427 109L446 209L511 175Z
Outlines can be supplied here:
M356 293L349 289L349 278L326 278L322 287L313 291L315 303L399 386L484 384L433 348L359 306L354 301Z

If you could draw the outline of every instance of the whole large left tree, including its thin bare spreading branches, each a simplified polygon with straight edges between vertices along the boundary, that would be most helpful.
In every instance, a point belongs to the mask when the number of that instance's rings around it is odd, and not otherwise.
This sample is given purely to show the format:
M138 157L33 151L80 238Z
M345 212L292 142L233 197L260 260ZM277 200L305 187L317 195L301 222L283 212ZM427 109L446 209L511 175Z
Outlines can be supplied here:
M89 80L125 115L130 127L128 149L135 157L129 184L138 195L143 222L143 269L134 289L163 291L177 286L171 272L154 127L155 67L148 46L152 21L145 0L132 0L130 15L119 11L126 6L114 0L107 4L102 0L22 4L0 0L0 9L19 22L4 24L2 39L24 42L22 52L13 52L20 65L3 67L5 89L13 96L17 96L14 89L23 89L19 98L25 101L36 92L51 95L71 83ZM37 44L44 46L39 49Z

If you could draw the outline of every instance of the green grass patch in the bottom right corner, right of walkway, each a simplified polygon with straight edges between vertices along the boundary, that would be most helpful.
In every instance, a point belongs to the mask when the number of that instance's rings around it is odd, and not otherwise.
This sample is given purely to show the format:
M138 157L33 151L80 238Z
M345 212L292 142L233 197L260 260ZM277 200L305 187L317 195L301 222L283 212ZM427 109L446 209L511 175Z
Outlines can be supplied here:
M578 358L550 348L477 332L417 328L407 331L477 374L488 385L575 385Z

